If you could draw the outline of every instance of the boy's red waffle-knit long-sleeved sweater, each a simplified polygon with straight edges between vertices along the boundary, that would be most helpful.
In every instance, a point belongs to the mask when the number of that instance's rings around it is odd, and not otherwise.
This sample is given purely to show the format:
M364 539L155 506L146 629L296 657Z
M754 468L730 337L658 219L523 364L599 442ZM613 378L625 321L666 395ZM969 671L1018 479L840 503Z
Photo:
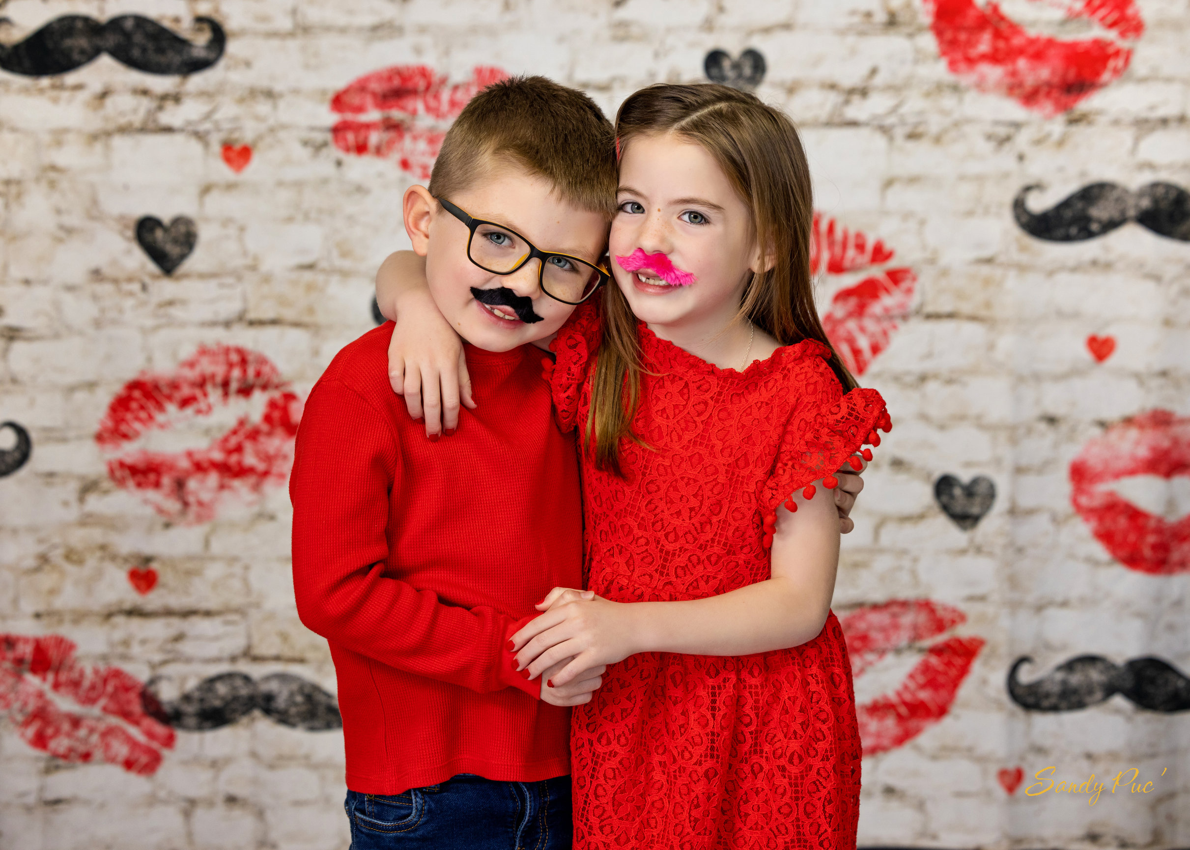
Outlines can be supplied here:
M289 482L298 613L331 645L347 788L566 774L570 710L506 649L534 602L582 581L577 458L541 352L468 345L478 407L431 443L389 387L392 330L311 390Z

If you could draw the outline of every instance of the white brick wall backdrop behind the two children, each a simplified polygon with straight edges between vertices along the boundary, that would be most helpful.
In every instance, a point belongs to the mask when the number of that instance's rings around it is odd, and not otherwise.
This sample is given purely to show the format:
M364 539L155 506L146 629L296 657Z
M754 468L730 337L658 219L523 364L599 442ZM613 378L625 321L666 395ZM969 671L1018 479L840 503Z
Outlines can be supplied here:
M835 610L932 600L965 621L865 670L858 701L896 692L939 639L985 642L945 717L865 758L860 845L1190 846L1186 711L1116 695L1029 712L1006 689L1025 655L1026 681L1079 655L1190 671L1190 520L1171 526L1165 574L1127 568L1076 513L1069 475L1109 426L1158 408L1190 414L1190 242L1136 224L1047 242L1012 212L1032 183L1044 185L1034 211L1098 181L1190 188L1190 2L1136 4L1145 29L1122 76L1046 117L952 74L931 31L946 4L923 0L10 0L4 44L62 15L124 13L196 42L206 35L193 19L206 15L227 43L190 76L108 56L57 76L0 71L0 421L33 446L0 479L0 632L62 636L84 664L159 677L162 694L227 671L292 673L333 693L326 644L294 611L284 485L225 499L207 521L163 515L108 475L113 455L95 435L109 402L140 373L173 373L220 343L259 352L303 398L372 326L371 276L407 245L400 199L413 176L333 144L336 121L369 118L330 107L352 80L407 64L455 85L493 65L583 88L613 115L640 86L704 79L713 49L751 48L768 67L758 95L802 129L823 217L895 251L877 271L916 276L908 314L862 377L896 427L845 539ZM1113 38L1070 18L1082 5L1001 8L1032 33ZM249 145L251 162L232 170L224 145ZM137 244L145 215L196 225L171 275ZM870 271L827 274L822 310ZM1115 340L1103 362L1092 335ZM178 418L144 445L200 449L258 415L258 401ZM13 437L0 431L0 448ZM1178 452L1190 452L1185 429L1167 446ZM1180 464L1133 500L1184 518ZM972 530L935 501L944 474L995 482ZM0 848L347 845L339 732L255 712L178 730L151 771L51 757L19 733L21 689L40 680L6 662ZM1047 765L1057 780L1094 773L1108 786L1094 806L1028 795ZM1111 794L1133 767L1150 793Z

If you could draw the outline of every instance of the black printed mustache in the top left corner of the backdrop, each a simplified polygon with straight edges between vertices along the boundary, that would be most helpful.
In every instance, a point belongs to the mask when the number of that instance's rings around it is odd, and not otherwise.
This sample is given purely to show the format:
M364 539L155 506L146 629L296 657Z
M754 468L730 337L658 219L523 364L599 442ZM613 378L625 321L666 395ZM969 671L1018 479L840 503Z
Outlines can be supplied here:
M24 76L50 76L81 68L100 54L148 74L193 74L223 56L227 36L211 18L211 38L192 44L155 20L121 14L101 24L82 14L55 18L23 42L0 44L0 68Z

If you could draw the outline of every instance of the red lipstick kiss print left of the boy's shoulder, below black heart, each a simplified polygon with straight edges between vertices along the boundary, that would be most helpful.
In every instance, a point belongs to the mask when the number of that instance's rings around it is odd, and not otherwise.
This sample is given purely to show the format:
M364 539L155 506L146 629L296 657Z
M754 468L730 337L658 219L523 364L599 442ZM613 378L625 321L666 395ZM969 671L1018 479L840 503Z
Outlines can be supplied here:
M230 412L233 402L259 413L239 417L203 449L137 445L183 419L195 425ZM95 442L111 457L112 481L139 493L162 517L196 525L214 519L225 496L257 495L265 485L284 482L300 418L301 402L264 355L200 346L173 373L146 371L129 381L108 405Z

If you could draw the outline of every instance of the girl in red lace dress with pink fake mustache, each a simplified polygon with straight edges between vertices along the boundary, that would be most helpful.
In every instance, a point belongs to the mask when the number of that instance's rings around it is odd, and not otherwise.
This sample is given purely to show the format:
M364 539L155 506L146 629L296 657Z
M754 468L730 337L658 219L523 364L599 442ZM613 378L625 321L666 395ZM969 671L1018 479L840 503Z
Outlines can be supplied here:
M608 664L574 713L575 844L854 848L839 521L814 493L890 423L814 310L801 143L715 85L635 93L616 137L615 286L546 367L582 439L588 589L511 646L530 677L571 658L555 686Z

